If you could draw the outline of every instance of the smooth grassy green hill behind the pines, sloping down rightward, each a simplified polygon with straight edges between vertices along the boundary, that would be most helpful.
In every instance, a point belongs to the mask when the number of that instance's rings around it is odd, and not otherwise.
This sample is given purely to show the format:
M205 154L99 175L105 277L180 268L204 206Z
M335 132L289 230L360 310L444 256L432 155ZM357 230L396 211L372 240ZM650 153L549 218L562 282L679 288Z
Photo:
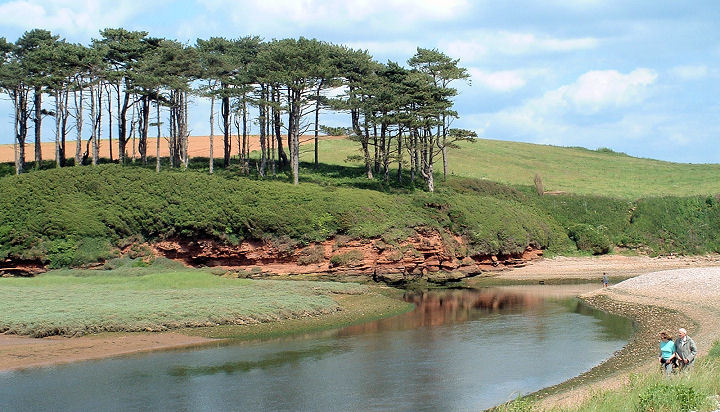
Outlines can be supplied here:
M321 142L320 159L347 164L359 145ZM305 153L310 161L311 152ZM436 170L442 170L436 168ZM539 173L546 190L637 199L720 193L720 165L682 164L630 157L607 149L588 150L500 140L463 142L449 154L449 173L509 185L533 185Z

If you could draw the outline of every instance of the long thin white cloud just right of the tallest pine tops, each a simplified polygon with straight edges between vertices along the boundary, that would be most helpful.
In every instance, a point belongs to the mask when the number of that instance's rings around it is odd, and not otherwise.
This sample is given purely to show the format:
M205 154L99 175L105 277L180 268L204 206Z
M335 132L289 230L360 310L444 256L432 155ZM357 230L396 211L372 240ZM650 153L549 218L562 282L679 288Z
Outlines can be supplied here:
M561 39L545 34L511 31L473 31L463 40L442 42L441 48L463 61L479 61L488 55L531 55L564 53L593 49L600 40L594 37Z

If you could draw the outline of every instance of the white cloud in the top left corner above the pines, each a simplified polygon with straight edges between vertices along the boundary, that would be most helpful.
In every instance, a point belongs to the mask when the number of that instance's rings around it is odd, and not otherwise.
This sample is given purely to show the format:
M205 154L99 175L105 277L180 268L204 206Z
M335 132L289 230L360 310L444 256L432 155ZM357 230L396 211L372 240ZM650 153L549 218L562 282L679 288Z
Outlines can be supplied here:
M91 37L122 25L146 7L132 0L16 0L0 4L0 25Z

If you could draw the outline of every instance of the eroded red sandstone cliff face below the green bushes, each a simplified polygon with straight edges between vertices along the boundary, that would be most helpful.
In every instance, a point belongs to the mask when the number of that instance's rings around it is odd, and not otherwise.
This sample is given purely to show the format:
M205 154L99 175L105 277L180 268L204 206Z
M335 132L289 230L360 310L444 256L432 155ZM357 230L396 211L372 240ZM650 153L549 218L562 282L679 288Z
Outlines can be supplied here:
M381 239L330 239L305 247L258 241L239 245L215 240L165 240L152 245L156 254L189 266L219 266L248 277L316 274L332 279L362 277L386 283L426 279L446 282L483 272L525 265L542 256L528 248L508 256L465 256L460 237L437 232L417 234L387 244ZM458 257L463 256L463 257Z

